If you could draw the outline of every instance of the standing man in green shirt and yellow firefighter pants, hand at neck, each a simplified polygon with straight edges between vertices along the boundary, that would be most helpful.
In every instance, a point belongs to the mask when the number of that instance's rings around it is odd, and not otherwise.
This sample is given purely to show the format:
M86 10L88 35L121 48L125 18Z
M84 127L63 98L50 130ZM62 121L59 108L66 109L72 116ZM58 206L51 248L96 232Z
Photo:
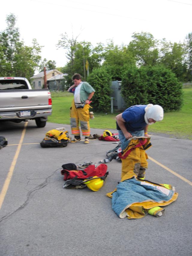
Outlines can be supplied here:
M89 143L90 125L89 125L89 108L90 100L93 97L95 90L87 83L82 82L80 74L74 74L72 77L74 84L67 90L74 94L72 107L70 111L70 126L71 133L74 134L74 139L70 143L76 143L81 140L79 122L82 135L85 136L85 144Z

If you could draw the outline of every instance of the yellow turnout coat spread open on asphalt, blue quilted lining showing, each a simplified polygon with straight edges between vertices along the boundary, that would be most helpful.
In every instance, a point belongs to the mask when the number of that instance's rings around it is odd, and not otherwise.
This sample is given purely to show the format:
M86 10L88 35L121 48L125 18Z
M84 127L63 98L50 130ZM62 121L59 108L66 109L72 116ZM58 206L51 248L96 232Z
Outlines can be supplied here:
M120 218L138 219L147 213L160 217L164 211L162 206L174 202L178 193L165 188L163 184L142 181L133 176L119 182L117 188L107 196L112 198L112 209Z

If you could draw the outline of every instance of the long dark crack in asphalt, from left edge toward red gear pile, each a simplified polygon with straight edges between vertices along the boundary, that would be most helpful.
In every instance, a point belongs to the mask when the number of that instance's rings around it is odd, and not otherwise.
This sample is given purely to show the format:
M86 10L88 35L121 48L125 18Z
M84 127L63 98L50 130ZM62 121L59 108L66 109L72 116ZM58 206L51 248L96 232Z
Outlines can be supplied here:
M15 211L13 211L13 212L11 212L11 213L8 213L7 215L3 216L3 217L0 219L0 222L3 221L4 219L7 219L7 218L10 217L11 215L13 215L15 212L17 212L17 211L23 209L23 208L29 203L29 199L30 199L30 197L31 197L31 194L32 194L33 192L39 191L40 189L44 188L44 187L48 184L48 182L47 182L48 179L51 178L51 177L55 174L55 172L58 171L58 170L60 170L60 169L55 170L49 177L47 177L47 178L45 179L44 182L42 182L40 185L38 185L37 187L35 187L35 189L29 191L29 192L27 193L27 199L25 200L25 202L24 202L21 206L19 206L19 208L17 208Z

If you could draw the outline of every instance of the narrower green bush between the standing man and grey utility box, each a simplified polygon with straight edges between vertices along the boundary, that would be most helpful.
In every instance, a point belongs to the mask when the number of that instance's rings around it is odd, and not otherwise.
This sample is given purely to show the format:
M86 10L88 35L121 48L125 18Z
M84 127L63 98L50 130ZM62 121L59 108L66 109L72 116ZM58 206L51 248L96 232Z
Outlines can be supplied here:
M111 107L111 76L106 68L93 69L87 82L95 89L91 99L94 111L107 112Z

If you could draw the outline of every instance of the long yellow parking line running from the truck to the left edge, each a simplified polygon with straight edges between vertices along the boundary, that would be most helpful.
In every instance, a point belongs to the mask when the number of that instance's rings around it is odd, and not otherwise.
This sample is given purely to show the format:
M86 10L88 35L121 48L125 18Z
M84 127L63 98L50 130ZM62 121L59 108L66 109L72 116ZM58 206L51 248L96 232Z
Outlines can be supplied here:
M11 181L11 177L13 175L13 171L14 171L14 168L15 168L15 165L16 165L17 158L19 156L19 152L20 152L20 149L21 149L21 146L22 146L22 142L23 142L23 139L24 139L24 136L25 136L27 125L28 125L28 122L26 122L25 125L24 125L23 131L22 131L22 134L21 134L21 138L20 138L18 147L17 147L16 152L15 152L15 156L13 158L13 161L11 163L11 166L10 166L8 174L7 174L7 178L6 178L5 182L4 182L3 188L1 190L1 194L0 194L0 209L1 209L1 206L3 204L5 195L7 193L7 189L9 187L9 183Z

